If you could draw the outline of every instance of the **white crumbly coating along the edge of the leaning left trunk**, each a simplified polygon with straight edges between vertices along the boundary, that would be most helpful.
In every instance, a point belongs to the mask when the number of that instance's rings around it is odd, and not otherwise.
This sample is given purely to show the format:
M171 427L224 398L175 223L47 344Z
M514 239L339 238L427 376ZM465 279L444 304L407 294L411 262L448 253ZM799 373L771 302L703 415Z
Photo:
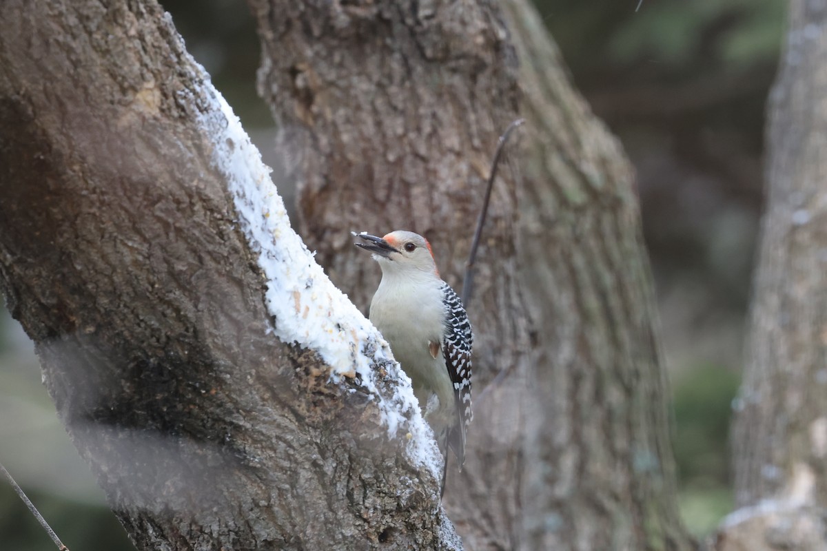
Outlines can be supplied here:
M203 69L202 69L203 71ZM201 116L213 140L213 163L227 179L238 223L267 278L265 301L273 331L285 343L315 350L331 366L331 383L358 373L373 394L388 434L400 429L409 439L409 456L439 480L442 454L423 420L410 379L393 360L387 342L347 296L333 286L299 235L290 227L284 203L270 178L270 168L241 128L241 121L203 71L203 96L210 101ZM381 365L399 379L394 395L381 397L375 368ZM405 421L403 413L409 413ZM404 426L407 425L407 426Z

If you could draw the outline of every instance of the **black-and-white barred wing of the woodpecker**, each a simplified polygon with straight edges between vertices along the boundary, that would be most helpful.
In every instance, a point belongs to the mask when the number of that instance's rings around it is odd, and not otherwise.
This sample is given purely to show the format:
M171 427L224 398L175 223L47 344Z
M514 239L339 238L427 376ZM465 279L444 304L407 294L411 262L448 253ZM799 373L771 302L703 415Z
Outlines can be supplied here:
M457 408L456 423L448 429L448 445L457 454L462 468L465 462L466 427L473 419L471 412L471 345L474 335L468 321L465 307L457 293L444 283L442 297L447 317L445 337L442 340L442 355L445 367L454 386L454 401Z

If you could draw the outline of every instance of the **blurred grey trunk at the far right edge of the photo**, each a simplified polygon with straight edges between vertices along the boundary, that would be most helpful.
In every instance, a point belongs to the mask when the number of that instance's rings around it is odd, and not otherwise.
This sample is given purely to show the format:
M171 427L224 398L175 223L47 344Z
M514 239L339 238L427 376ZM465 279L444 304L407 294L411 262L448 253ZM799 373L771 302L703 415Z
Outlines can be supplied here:
M827 549L827 7L790 7L721 550Z

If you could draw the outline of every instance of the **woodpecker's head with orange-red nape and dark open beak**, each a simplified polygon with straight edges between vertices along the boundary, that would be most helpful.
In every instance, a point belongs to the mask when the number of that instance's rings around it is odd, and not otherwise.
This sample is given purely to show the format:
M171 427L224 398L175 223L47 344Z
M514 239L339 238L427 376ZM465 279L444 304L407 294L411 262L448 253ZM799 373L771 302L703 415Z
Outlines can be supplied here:
M365 231L351 234L363 241L354 245L373 253L373 259L379 263L382 273L423 272L439 277L431 244L422 235L405 230L391 231L383 237Z

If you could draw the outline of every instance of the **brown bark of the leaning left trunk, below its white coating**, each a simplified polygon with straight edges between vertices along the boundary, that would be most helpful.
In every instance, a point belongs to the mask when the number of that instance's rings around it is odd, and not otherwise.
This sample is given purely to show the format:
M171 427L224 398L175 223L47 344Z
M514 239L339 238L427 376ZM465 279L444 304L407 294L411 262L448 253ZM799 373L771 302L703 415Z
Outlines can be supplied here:
M204 78L155 2L0 3L0 286L60 419L140 549L456 549L373 397L268 335Z

